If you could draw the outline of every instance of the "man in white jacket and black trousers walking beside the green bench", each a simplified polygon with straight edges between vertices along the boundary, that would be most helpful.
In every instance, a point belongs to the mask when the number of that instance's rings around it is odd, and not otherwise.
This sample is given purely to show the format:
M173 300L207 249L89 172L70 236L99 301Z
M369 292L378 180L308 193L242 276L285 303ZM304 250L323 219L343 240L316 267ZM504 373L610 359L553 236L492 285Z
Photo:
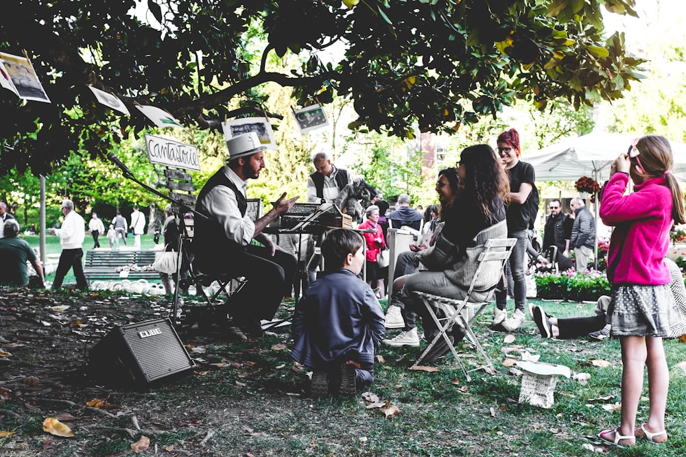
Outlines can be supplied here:
M82 291L86 291L88 290L88 283L81 260L84 256L82 245L84 238L86 238L84 218L74 211L74 203L71 200L62 201L62 214L64 214L62 227L49 230L51 234L60 237L60 245L62 245L62 255L60 255L60 262L57 265L52 289L59 291L62 288L64 275L70 268L73 268L76 286Z

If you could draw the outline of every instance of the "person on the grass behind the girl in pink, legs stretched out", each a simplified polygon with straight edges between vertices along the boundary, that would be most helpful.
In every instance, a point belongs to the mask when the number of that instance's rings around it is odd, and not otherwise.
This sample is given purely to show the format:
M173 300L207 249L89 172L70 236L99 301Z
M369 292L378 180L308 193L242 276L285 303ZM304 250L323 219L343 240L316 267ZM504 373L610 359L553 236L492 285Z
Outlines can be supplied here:
M684 317L678 325L670 328L668 338L678 338L686 333L686 287L684 286L683 275L678 265L668 258L665 258L664 262L670 270L670 276L672 277L670 288L672 289L672 295L674 295L674 301L676 301L676 308ZM608 297L608 295L600 297L598 304L595 306L595 316L593 317L558 319L545 314L541 306L534 307L532 317L543 338L578 338L579 336L588 335L596 340L604 340L610 337L612 330L611 325L606 323L610 301L611 297Z

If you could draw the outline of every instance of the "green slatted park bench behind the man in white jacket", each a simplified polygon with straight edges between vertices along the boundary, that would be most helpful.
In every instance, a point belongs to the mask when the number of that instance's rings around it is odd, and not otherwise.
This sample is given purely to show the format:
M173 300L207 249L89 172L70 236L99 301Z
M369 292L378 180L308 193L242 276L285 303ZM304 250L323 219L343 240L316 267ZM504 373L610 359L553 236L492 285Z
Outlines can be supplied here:
M152 269L155 253L158 251L110 251L93 249L86 251L84 274L86 280L119 280L126 277L131 280L159 279L158 271ZM122 274L121 271L127 273Z

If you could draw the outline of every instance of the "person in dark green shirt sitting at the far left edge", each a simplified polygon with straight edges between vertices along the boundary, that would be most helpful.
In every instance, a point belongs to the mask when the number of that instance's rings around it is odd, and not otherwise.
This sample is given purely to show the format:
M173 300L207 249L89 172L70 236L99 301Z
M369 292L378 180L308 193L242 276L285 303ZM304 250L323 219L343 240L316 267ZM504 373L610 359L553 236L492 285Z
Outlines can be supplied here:
M5 237L0 238L0 284L25 287L29 285L27 274L27 260L31 262L38 273L39 284L45 284L43 268L36 258L34 249L17 235L21 231L16 219L7 219L3 225Z

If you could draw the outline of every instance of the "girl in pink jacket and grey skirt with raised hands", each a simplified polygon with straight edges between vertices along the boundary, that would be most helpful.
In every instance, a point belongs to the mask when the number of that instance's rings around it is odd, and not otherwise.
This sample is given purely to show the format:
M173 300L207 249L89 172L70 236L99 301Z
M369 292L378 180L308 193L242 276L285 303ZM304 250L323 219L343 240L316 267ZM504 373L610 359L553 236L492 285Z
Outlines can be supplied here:
M606 443L623 447L636 438L667 441L665 406L670 373L662 345L670 325L681 322L670 292L670 273L663 262L670 227L684 223L683 195L672 169L672 148L662 136L634 140L615 160L604 188L600 217L615 230L608 251L612 302L608 323L622 345L622 423L600 432ZM634 192L624 195L629 182ZM636 428L643 390L643 366L648 366L650 412Z

